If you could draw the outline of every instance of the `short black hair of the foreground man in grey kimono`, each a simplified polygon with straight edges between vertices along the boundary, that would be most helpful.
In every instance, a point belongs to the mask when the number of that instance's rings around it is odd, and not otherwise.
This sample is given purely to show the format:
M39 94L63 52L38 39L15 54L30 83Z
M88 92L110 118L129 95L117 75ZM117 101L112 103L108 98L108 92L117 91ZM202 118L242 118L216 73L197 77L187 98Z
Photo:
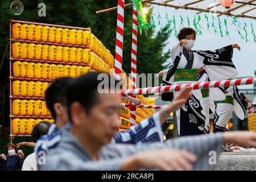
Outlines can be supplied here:
M98 76L100 74L105 74L104 78L108 78L106 83L108 83L108 88L104 89L110 89L112 87L115 88L117 84L120 82L118 80L114 81L114 84L110 84L110 80L114 80L113 77L110 77L106 73L100 73L100 72L89 72L85 75L82 75L78 78L75 78L73 80L72 84L68 88L68 114L69 119L71 121L71 113L70 113L70 107L73 102L79 102L85 109L86 113L90 113L90 110L94 105L98 102L98 96L100 93L98 93L98 85L102 82L102 80L98 80ZM122 85L121 85L122 86ZM120 88L121 89L121 88ZM72 122L72 121L71 121Z

